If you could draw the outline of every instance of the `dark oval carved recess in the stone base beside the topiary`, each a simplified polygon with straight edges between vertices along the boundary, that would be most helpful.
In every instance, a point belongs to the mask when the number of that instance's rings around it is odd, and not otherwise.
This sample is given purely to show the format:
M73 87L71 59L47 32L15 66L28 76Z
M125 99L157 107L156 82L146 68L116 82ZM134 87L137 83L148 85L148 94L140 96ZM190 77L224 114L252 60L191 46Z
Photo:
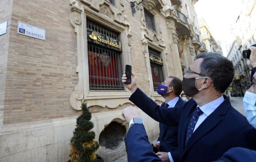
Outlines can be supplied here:
M99 143L100 146L105 148L115 149L123 140L126 134L125 126L118 122L111 122L104 130L100 133Z

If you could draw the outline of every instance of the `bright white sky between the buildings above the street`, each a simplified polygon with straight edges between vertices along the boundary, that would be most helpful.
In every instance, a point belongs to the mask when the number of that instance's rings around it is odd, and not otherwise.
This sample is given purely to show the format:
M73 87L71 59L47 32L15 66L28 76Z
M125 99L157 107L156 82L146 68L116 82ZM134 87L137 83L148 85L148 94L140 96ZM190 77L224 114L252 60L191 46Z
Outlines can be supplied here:
M195 10L198 19L204 18L215 40L220 40L223 55L227 55L226 43L235 40L231 24L241 12L242 0L198 0Z

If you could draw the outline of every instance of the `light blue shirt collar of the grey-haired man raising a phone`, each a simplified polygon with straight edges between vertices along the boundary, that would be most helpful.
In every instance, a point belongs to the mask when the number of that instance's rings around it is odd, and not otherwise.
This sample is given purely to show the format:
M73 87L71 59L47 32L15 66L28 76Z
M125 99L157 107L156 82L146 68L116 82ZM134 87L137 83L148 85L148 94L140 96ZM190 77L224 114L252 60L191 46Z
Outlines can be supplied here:
M209 116L210 114L212 114L212 112L214 112L214 110L216 108L218 108L218 106L220 106L220 104L223 101L224 101L224 97L222 95L219 98L217 98L216 100L209 102L208 104L205 104L203 106L197 105L197 107L199 107L202 110L202 112L204 112L204 114L206 114L206 116Z

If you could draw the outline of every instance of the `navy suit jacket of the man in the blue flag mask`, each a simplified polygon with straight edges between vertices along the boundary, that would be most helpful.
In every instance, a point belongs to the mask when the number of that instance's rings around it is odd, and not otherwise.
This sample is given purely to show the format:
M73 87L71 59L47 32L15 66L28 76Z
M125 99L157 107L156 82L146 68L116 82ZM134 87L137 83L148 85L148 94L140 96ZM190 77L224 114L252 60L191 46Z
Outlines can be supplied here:
M180 97L175 106L183 106L184 102ZM164 107L165 103L161 105L161 108ZM172 159L174 162L179 162L179 151L178 151L178 126L168 126L162 123L159 123L159 137L160 141L160 151L161 152L171 152Z

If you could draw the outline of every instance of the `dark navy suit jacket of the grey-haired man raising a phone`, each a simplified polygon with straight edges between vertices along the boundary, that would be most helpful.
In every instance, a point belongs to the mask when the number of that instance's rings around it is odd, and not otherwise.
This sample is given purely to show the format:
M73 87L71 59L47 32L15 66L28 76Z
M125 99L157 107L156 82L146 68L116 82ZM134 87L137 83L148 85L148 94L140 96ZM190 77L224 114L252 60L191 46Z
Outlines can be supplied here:
M130 97L130 100L136 106L154 120L169 126L178 126L178 149L182 162L218 160L232 147L256 150L256 130L242 114L231 106L226 96L224 96L224 99L224 102L195 130L185 146L187 126L192 112L197 106L193 99L186 102L184 106L161 108L139 88ZM136 141L137 144L140 144L142 140ZM135 154L133 156L142 157L146 155L140 152L133 152L133 154ZM131 156L130 154L127 155L128 158ZM148 157L145 158L148 159Z

